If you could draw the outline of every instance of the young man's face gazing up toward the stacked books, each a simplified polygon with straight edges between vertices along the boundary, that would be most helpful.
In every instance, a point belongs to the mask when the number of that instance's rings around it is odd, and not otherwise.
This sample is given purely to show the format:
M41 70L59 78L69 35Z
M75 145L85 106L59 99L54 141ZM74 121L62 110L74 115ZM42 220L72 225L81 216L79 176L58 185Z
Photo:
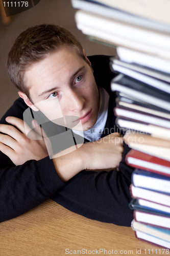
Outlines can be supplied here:
M58 123L64 116L66 125L61 125L77 131L95 124L98 87L91 67L72 48L62 47L35 63L26 71L25 79L34 106L51 121Z

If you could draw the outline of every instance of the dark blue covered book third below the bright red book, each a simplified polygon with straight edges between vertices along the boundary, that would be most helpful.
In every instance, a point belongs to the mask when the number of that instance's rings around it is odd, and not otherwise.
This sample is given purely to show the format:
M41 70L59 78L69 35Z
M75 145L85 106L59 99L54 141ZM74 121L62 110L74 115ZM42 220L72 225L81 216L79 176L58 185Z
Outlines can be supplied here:
M129 203L129 207L134 210L134 212L138 210L154 215L170 217L170 207L140 198L133 198Z

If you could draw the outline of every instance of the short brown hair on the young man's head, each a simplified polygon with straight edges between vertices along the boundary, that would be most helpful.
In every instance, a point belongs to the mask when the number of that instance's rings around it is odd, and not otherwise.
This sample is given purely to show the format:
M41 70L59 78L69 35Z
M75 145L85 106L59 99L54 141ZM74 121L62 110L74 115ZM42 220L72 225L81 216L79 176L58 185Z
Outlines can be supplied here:
M29 88L24 82L26 69L62 46L72 47L86 61L79 40L65 28L42 24L23 31L16 38L6 65L15 87L30 98Z

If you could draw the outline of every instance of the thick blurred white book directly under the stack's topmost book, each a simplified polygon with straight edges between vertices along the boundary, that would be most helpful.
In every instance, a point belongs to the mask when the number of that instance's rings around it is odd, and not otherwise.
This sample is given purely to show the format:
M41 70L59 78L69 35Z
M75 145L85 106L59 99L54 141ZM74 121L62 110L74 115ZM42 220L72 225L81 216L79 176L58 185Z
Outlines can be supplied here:
M143 29L90 12L77 11L78 29L86 35L101 38L110 44L125 46L170 59L168 34Z

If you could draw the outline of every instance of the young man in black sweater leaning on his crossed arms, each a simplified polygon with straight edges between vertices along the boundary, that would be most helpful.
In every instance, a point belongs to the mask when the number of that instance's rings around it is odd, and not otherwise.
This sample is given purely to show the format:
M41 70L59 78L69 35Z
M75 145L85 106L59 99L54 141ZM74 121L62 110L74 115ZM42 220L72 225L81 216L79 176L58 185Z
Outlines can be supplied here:
M87 58L67 30L39 25L17 37L7 69L20 99L0 124L0 221L53 197L88 218L129 226L133 169L125 164L128 147L123 152L122 138L114 133L115 94L110 80L115 74L109 69L109 57ZM53 138L54 131L65 125L75 136L91 142L80 147L75 143L69 147L70 153L58 153L50 159L44 141L38 140L35 132L31 139L26 136L22 118L28 106L33 116L43 116L47 123L43 134L48 137L49 131Z

